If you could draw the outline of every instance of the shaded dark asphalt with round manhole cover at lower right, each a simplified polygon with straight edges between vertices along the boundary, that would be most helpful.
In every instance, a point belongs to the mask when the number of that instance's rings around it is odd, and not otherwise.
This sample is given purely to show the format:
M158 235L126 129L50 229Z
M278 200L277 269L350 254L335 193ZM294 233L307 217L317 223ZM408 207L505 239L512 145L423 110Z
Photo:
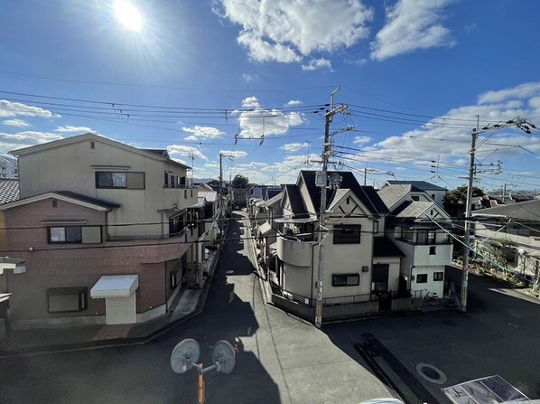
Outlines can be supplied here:
M461 279L460 271L452 275ZM497 374L540 398L540 301L488 278L469 279L466 314L427 311L325 332L344 352L351 343L364 347L406 402L450 403L442 388Z

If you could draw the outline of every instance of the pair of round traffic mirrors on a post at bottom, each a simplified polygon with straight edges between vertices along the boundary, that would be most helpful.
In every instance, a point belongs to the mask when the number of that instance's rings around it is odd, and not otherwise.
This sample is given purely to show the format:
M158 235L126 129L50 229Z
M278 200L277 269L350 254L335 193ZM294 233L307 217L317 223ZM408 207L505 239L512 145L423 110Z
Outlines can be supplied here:
M171 368L175 373L183 374L193 368L197 368L198 378L198 403L204 404L204 373L215 369L219 373L229 374L235 368L235 348L226 340L219 340L212 349L212 362L203 368L199 362L200 345L192 338L187 338L178 343L171 353ZM199 363L198 363L199 362Z

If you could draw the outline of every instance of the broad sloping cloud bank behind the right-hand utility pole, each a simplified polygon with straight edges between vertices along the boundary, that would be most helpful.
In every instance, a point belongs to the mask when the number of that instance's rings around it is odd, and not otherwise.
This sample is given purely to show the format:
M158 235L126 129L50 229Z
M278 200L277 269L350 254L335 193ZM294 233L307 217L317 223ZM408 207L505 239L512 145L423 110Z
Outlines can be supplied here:
M444 117L427 121L424 126L402 135L390 136L374 145L362 147L361 153L349 157L357 162L391 162L417 166L429 164L438 155L441 155L442 165L465 161L463 156L469 153L470 131L476 127L477 115L480 117L480 127L489 123L506 122L517 116L529 119L535 124L540 122L540 85L536 84L540 83L489 91L480 95L478 105L452 108ZM483 136L480 135L480 138ZM517 159L524 155L529 156L527 151L540 153L540 136L529 136L516 128L501 129L495 136L497 140L493 141L494 144L507 146L490 145L491 141L487 142L477 151L480 160L488 156L489 161Z

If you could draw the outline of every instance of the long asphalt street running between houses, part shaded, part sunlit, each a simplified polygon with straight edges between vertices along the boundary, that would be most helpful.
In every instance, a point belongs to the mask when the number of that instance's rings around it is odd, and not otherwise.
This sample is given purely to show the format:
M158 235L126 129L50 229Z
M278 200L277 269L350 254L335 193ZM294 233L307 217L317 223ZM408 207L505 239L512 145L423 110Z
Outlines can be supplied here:
M238 216L236 219L239 219ZM200 343L211 364L214 343L237 349L229 375L205 373L206 402L358 403L388 397L352 346L265 305L242 221L231 221L203 312L152 343L115 349L0 358L2 403L195 403L197 372L172 372L173 347Z

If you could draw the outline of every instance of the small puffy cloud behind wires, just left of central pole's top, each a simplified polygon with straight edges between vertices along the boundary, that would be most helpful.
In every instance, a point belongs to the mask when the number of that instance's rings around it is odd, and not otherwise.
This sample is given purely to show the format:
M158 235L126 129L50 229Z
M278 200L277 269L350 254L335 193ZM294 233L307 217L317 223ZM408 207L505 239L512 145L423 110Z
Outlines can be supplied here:
M278 109L262 108L256 97L248 97L242 101L242 107L233 111L237 114L240 133L243 138L262 138L262 136L282 135L290 127L303 124L298 112L283 113Z

